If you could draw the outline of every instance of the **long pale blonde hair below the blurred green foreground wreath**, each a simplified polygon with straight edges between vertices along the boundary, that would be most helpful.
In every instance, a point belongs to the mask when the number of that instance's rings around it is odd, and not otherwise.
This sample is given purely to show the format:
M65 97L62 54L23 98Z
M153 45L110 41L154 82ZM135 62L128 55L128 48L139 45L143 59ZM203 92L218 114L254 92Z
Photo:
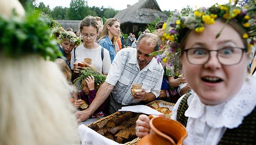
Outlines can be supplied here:
M74 144L74 107L57 65L31 54L0 61L0 144Z

